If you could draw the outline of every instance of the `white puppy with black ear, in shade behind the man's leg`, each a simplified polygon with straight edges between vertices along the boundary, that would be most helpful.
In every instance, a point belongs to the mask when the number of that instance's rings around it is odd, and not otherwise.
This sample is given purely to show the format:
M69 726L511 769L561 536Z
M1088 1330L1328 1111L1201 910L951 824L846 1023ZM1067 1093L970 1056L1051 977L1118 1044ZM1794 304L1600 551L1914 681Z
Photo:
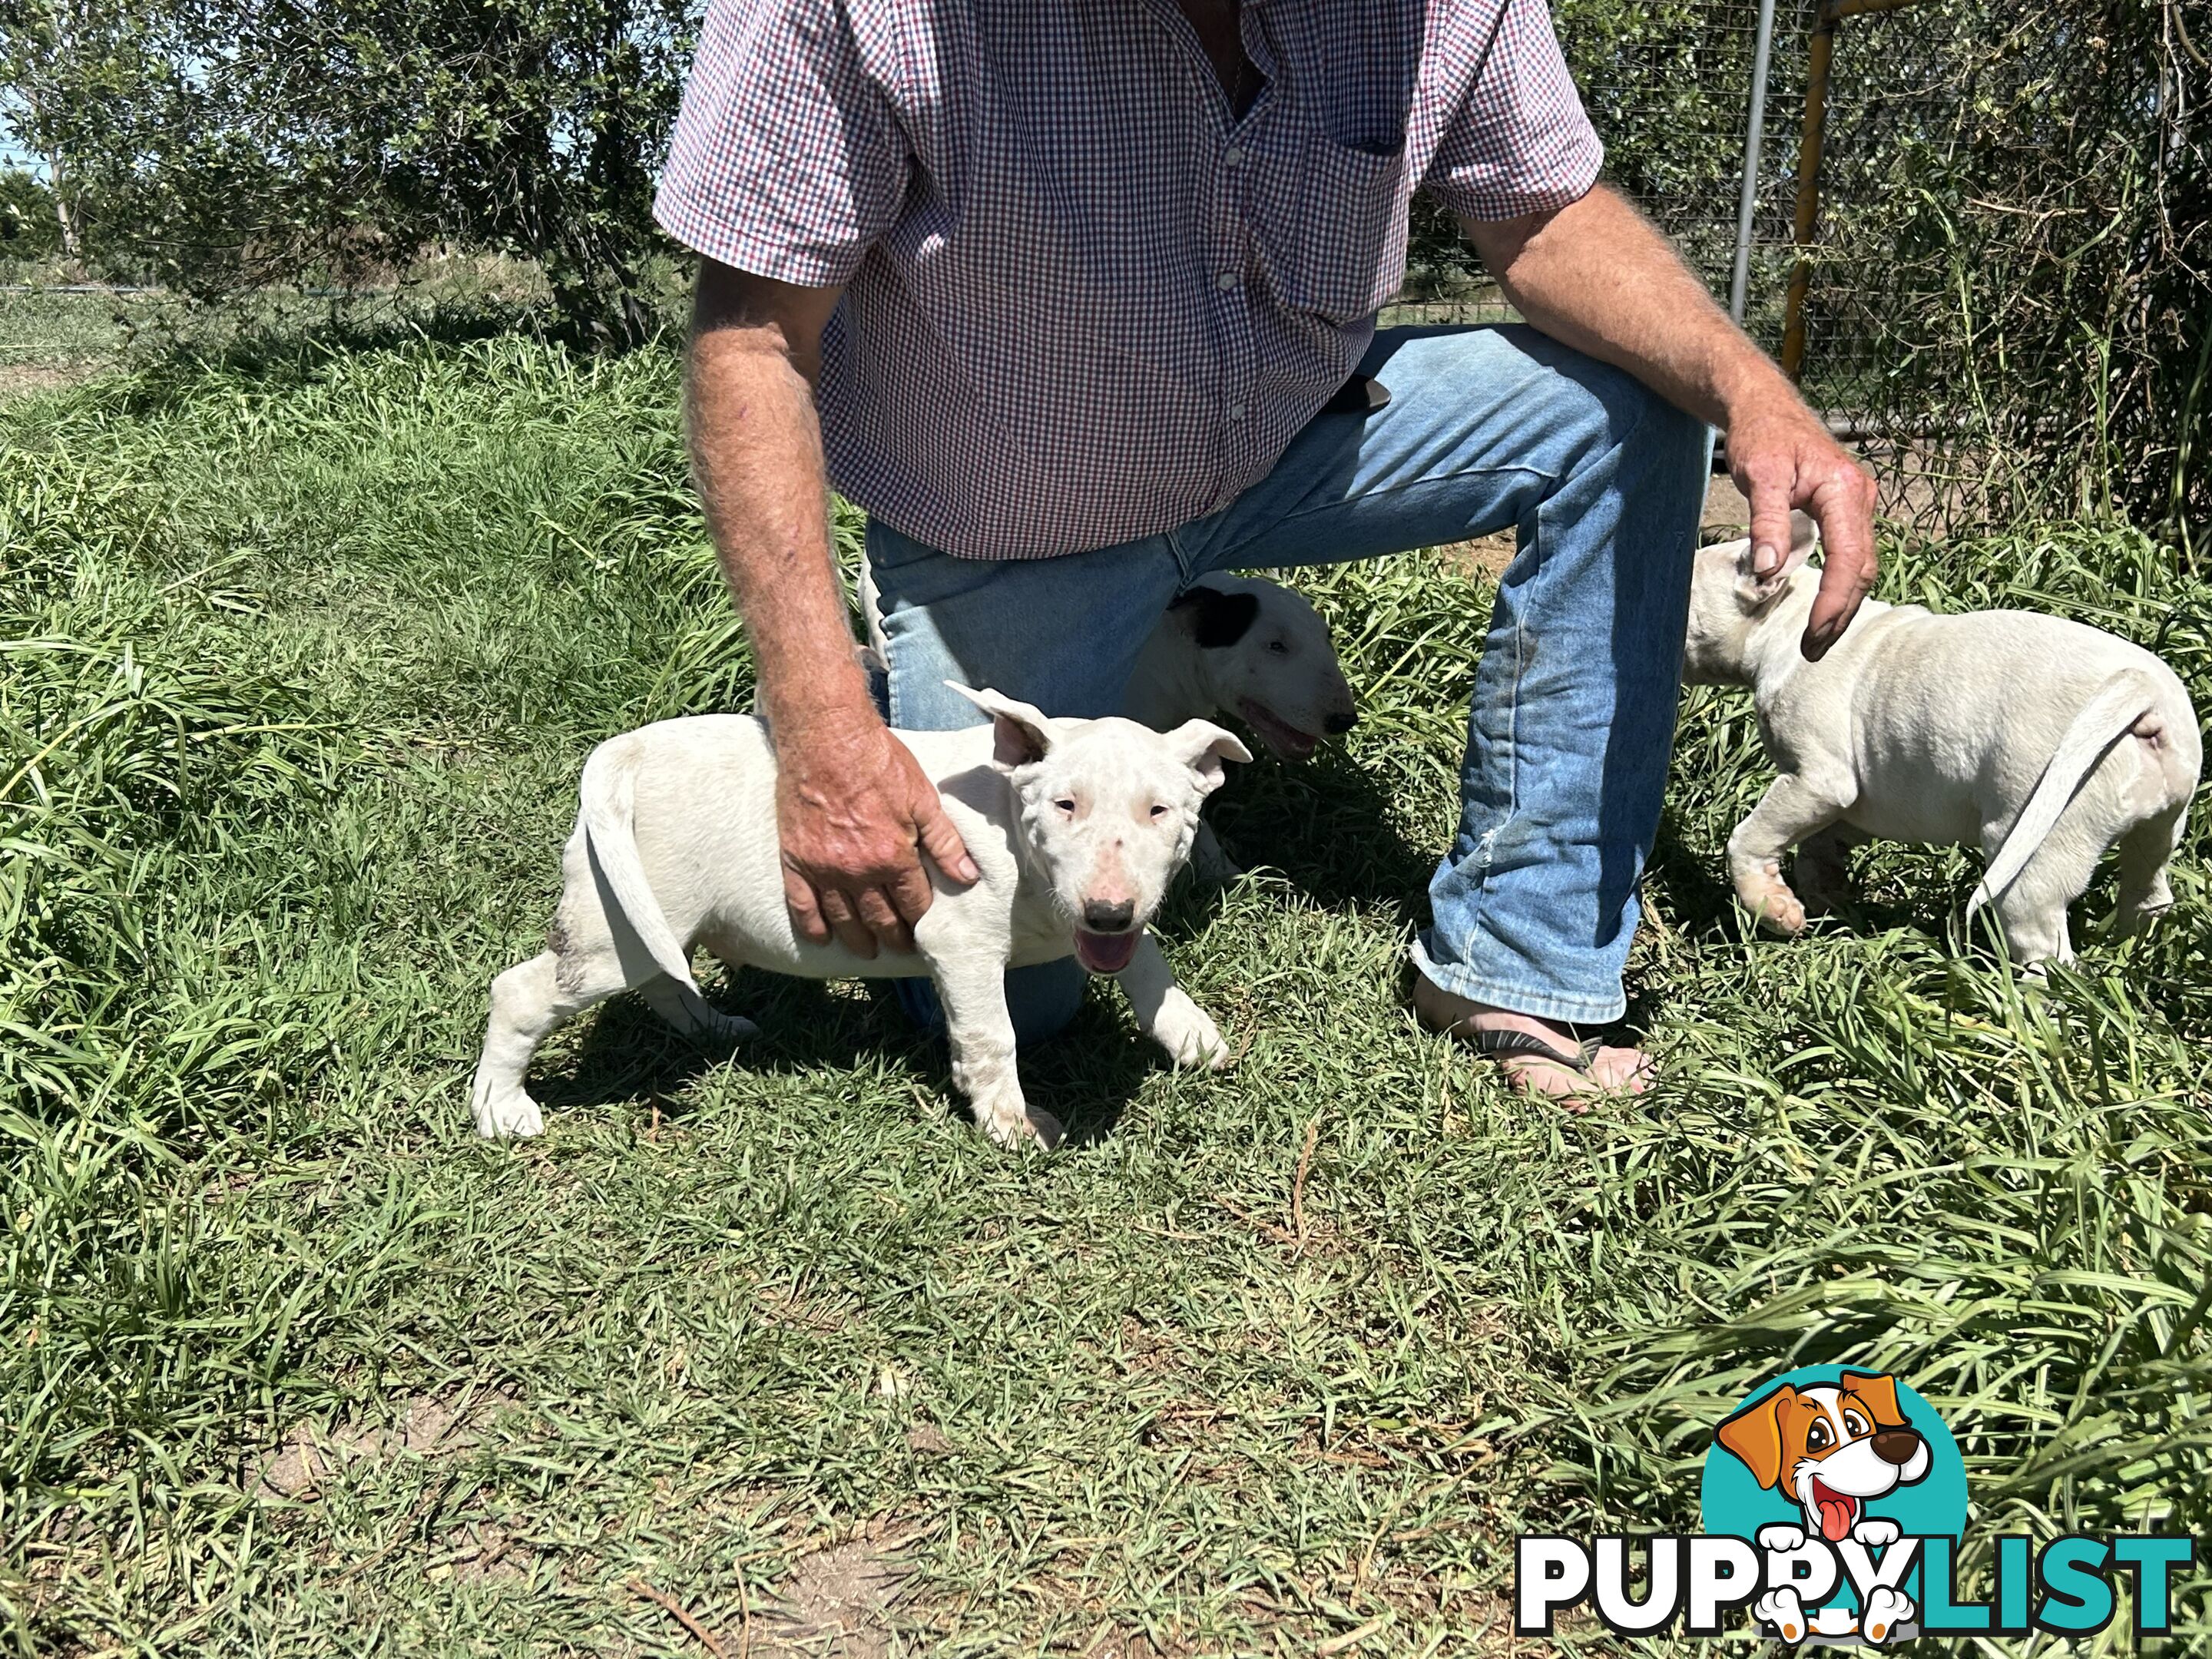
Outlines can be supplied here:
M1310 759L1323 737L1360 719L1329 624L1303 593L1245 575L1199 577L1175 597L1144 641L1121 712L1155 732L1234 712L1285 761ZM1241 874L1208 823L1190 867L1214 883Z

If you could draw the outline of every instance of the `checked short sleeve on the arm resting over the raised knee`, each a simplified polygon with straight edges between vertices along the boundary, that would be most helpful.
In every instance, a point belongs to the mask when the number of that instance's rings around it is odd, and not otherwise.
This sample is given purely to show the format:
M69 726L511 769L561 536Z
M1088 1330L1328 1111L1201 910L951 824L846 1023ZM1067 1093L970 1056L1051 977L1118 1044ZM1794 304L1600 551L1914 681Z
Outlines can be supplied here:
M1491 53L1420 188L1460 219L1517 219L1579 201L1604 159L1546 0L1506 0Z

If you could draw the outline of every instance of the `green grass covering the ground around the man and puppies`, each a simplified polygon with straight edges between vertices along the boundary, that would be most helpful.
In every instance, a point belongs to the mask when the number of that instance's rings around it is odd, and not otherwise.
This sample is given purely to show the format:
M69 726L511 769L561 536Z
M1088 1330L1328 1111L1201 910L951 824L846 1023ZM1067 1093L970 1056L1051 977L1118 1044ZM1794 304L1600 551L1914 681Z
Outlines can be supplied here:
M2212 1531L2201 834L2048 995L1947 936L1958 854L1747 940L1765 768L1699 692L1632 971L1666 1084L1562 1117L1405 1011L1489 599L1407 555L1305 580L1369 717L1245 772L1270 869L1166 920L1232 1073L1095 995L1024 1057L1084 1144L1002 1155L858 989L745 975L754 1046L608 1004L551 1133L484 1146L586 750L748 692L672 361L168 367L0 449L18 1652L703 1652L637 1584L732 1655L803 1635L776 1597L814 1650L838 1608L852 1650L1493 1650L1515 1528L1694 1526L1712 1422L1838 1358L1947 1413L1969 1537ZM1885 593L2086 615L2212 703L2212 593L2128 529L1898 546ZM887 1628L838 1601L872 1562Z

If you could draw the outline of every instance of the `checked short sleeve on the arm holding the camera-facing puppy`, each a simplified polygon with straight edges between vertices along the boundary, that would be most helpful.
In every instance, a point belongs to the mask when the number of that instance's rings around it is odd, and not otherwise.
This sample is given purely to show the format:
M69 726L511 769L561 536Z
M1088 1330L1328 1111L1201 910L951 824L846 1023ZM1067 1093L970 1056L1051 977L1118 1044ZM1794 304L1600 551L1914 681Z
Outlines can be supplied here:
M723 265L838 288L898 217L909 150L836 0L710 0L653 217Z

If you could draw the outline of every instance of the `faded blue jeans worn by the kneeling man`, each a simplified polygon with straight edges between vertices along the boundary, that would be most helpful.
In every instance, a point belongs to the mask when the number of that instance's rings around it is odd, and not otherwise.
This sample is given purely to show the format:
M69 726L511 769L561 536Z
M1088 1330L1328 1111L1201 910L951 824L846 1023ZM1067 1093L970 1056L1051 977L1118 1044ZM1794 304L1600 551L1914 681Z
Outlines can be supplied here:
M1389 387L1383 409L1316 416L1267 478L1164 535L984 562L872 522L891 726L978 723L947 679L1048 714L1113 714L1168 602L1208 571L1338 564L1511 524L1460 830L1429 883L1433 920L1413 962L1478 1002L1617 1020L1674 739L1712 434L1531 327L1383 330L1360 369ZM1033 1040L1075 1013L1084 975L1048 962L1011 973L1006 991Z

